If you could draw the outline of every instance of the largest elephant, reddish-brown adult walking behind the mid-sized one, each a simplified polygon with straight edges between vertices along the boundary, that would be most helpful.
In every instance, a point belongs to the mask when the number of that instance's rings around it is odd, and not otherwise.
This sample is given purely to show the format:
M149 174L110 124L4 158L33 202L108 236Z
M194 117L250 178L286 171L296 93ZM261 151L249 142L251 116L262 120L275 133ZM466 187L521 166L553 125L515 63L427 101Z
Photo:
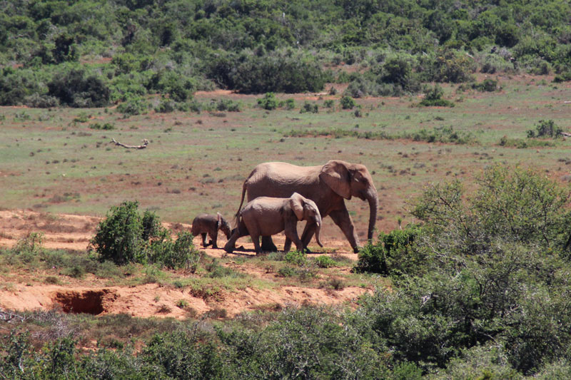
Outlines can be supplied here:
M289 163L261 163L244 181L242 199L238 212L248 192L248 202L257 197L290 197L294 192L313 200L321 217L330 216L338 225L354 252L359 250L359 240L353 220L345 207L345 199L358 197L367 200L370 207L367 238L373 238L377 219L378 194L373 178L365 165L330 160L320 166L297 166ZM307 247L315 233L315 225L305 225L301 241ZM286 248L291 242L285 241ZM263 250L276 250L271 237L262 238Z

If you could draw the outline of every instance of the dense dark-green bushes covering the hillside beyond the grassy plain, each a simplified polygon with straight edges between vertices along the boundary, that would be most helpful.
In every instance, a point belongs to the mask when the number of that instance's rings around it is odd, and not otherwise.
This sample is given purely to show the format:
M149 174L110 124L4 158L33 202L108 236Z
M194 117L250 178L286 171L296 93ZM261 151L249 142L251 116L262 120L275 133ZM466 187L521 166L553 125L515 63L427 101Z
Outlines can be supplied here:
M198 89L401 95L470 73L570 77L567 1L4 1L0 105L179 109ZM340 65L355 65L353 73ZM171 104L171 107L173 105ZM196 107L195 107L196 108Z

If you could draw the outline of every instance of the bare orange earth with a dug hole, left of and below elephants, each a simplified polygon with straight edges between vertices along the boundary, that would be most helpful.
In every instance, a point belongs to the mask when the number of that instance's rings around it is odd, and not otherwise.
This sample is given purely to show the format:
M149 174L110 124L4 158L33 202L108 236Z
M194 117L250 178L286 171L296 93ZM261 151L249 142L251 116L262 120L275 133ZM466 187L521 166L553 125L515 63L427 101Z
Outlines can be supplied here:
M0 211L0 247L12 247L29 232L44 233L44 247L50 249L84 251L94 235L97 217L81 215L51 215L30 210ZM189 225L166 223L173 230L190 229ZM243 238L241 240L246 240ZM247 257L254 255L253 245L238 241L245 250L225 255L221 249L206 248L203 251L211 257ZM219 237L218 245L225 240ZM355 260L356 255L348 252L344 241L324 240L325 246L335 250L335 255L346 255ZM194 241L201 249L200 237ZM276 239L283 245L283 236ZM229 266L249 277L271 281L275 273L253 265L229 262ZM63 312L103 314L129 314L133 317L173 317L184 319L209 312L220 317L234 317L241 312L279 308L303 304L354 304L368 289L345 287L344 289L320 289L315 287L276 286L270 289L245 287L236 290L222 290L216 297L201 297L188 287L175 288L161 284L136 286L106 286L106 279L88 274L83 279L71 279L60 275L59 284L46 284L47 274L28 269L18 273L0 274L0 308L20 312L34 309L61 309ZM188 274L189 276L191 274ZM223 313L220 311L223 310Z

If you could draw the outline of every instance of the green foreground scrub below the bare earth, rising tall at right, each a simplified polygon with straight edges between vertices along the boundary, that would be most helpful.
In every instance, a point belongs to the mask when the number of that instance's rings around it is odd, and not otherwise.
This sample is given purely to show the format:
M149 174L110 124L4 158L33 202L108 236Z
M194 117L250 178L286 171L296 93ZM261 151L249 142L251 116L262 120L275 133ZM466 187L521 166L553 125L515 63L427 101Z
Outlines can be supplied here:
M383 274L392 289L365 294L357 309L288 308L168 324L14 314L4 324L13 325L2 339L1 369L21 379L564 379L571 371L569 196L539 173L493 166L468 194L459 181L430 186L415 200L418 225L381 233L360 252L354 270ZM117 229L111 221L133 204L114 210L100 232ZM34 261L37 244L30 237L3 260ZM283 260L299 267L308 259L290 252ZM329 257L315 264L338 265ZM105 322L118 337L79 351L81 331ZM31 339L26 330L39 333ZM126 331L144 346L126 341ZM37 334L55 339L36 351Z

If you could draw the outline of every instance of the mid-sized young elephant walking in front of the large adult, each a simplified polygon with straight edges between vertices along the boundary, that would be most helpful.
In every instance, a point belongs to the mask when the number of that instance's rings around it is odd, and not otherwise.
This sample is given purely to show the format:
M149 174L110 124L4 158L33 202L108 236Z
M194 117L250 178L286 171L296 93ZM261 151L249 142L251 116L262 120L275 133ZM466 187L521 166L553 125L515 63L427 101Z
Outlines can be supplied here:
M301 251L303 242L298 237L298 220L315 223L315 240L323 247L319 240L321 215L315 202L294 192L289 198L257 197L248 202L238 214L238 227L233 230L224 250L233 252L238 237L250 235L258 254L261 252L260 236L276 235L284 231L285 236Z

